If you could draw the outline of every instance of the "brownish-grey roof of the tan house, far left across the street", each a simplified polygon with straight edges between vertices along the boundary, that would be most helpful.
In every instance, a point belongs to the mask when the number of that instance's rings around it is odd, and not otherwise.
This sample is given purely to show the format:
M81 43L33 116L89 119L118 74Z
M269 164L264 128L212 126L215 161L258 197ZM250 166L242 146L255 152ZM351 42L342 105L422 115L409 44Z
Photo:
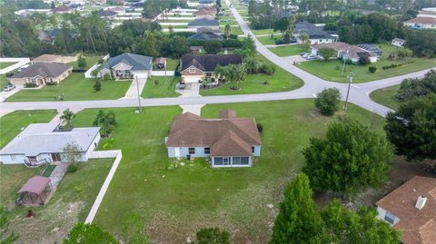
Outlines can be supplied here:
M72 68L73 66L64 63L34 63L25 70L15 73L11 78L57 77Z

